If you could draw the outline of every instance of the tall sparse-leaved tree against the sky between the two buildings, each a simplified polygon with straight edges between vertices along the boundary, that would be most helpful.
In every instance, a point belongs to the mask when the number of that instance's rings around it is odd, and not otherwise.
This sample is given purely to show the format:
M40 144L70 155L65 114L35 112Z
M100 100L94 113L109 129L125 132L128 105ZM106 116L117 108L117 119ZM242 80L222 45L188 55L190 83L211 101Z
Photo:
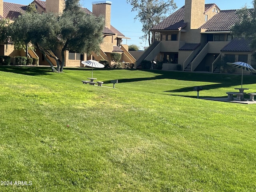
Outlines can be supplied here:
M142 23L143 38L151 44L150 29L166 18L166 14L177 8L173 0L126 0L132 5L132 11L138 12L134 20L139 18Z

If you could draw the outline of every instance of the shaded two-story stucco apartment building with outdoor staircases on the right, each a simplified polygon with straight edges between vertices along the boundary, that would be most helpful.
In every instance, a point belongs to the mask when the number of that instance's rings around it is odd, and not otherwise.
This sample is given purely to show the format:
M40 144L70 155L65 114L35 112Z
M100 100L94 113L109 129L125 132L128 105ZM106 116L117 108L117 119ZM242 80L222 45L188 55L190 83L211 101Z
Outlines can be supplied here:
M164 61L163 70L176 70L180 64L184 71L217 72L220 59L251 64L250 42L233 38L230 28L238 20L236 10L220 10L214 3L204 0L185 0L185 5L154 26L153 36L160 33L160 41L138 58Z

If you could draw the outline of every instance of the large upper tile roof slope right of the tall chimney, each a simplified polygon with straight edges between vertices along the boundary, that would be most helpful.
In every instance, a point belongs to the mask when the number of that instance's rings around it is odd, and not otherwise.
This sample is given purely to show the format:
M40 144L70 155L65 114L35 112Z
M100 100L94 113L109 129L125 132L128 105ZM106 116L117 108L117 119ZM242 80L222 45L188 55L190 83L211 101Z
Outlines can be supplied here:
M207 29L206 32L229 32L232 25L238 21L236 10L223 10L213 16L200 28Z

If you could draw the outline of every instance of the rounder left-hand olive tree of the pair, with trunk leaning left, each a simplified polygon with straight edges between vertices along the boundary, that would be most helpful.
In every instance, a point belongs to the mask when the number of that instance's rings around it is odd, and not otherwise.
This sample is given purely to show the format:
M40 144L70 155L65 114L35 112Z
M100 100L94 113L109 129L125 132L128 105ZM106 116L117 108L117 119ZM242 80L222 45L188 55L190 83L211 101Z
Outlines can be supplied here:
M50 63L52 71L55 71L54 64L46 55L55 58L52 50L56 50L59 46L60 25L57 16L52 13L26 12L14 20L10 25L10 31L16 48L33 44Z

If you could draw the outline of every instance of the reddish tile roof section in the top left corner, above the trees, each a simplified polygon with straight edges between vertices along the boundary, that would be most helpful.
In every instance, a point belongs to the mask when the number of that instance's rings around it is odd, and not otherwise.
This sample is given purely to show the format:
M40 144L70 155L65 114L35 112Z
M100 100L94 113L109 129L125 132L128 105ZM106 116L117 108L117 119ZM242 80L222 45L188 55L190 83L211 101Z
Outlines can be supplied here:
M3 8L4 8L3 17L14 19L14 18L18 18L20 13L24 13L25 10L27 9L27 6L21 5L21 4L4 2Z

